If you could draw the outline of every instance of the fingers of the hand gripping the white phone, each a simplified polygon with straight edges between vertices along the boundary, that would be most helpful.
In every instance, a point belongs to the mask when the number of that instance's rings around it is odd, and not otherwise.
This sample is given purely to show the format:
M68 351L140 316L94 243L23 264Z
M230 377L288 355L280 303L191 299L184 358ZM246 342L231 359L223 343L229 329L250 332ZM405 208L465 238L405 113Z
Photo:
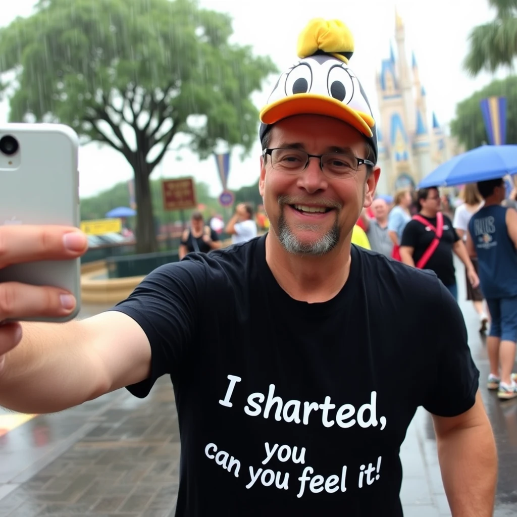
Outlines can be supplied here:
M86 236L68 226L0 226L0 268L40 260L66 260L88 249ZM62 289L18 282L0 283L0 370L5 354L22 339L20 318L63 317L75 298Z

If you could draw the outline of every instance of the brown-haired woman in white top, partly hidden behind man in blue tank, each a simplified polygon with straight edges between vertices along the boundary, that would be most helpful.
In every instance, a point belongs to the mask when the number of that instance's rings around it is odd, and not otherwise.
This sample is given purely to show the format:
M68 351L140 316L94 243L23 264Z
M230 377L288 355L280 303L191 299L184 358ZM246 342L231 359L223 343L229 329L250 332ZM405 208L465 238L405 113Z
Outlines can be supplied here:
M454 221L452 225L454 226L454 230L463 239L463 242L467 240L467 229L468 222L470 218L484 205L483 198L481 194L478 192L478 188L475 183L469 183L465 185L461 194L461 199L463 203L456 208L454 212ZM472 265L476 270L476 274L478 272L478 260L477 257L470 257L472 261ZM484 302L483 293L480 290L480 287L473 287L472 284L466 278L466 287L467 287L467 300L472 301L474 304L474 309L478 313L479 316L479 331L485 332L486 325L489 322L488 316L488 308L486 308L486 302Z

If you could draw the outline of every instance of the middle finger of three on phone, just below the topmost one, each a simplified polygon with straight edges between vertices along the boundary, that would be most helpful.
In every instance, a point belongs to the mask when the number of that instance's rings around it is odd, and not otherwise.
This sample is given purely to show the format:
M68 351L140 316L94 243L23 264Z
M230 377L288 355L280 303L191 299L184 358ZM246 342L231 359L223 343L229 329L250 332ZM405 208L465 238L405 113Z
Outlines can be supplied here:
M0 283L0 322L40 317L64 317L75 308L75 298L55 287L18 282Z

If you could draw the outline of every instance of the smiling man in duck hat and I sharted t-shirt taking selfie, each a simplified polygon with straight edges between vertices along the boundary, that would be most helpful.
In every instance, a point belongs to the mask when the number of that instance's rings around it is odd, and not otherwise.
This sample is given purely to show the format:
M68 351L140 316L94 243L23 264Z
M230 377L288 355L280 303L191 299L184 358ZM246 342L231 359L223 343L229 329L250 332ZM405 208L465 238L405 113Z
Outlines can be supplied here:
M495 442L458 305L433 273L351 246L380 173L352 42L313 20L261 112L270 232L162 266L87 320L7 324L0 404L53 412L122 387L143 398L171 375L176 514L257 517L400 517L399 449L423 405L452 513L492 515ZM0 231L3 264L86 248L70 229ZM50 287L2 291L12 320L73 305Z

